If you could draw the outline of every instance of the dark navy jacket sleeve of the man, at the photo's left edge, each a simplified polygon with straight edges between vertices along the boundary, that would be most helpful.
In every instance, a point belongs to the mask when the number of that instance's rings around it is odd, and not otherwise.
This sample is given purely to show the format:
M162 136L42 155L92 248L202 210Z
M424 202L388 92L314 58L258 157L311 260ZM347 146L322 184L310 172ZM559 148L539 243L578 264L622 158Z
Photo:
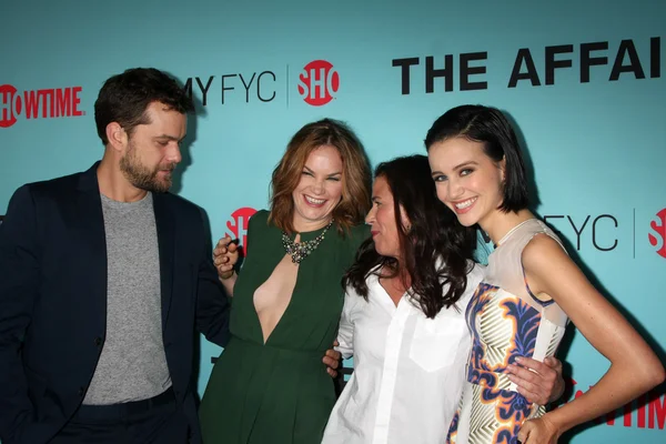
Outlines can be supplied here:
M32 416L20 357L39 287L37 210L28 185L9 202L0 225L0 438L11 443Z

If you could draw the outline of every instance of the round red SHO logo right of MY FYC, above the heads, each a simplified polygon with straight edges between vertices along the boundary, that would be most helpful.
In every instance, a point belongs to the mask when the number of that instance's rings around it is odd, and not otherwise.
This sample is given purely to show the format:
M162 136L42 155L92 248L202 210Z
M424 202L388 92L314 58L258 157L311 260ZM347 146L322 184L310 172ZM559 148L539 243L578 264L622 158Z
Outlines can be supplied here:
M311 61L299 75L299 94L313 107L322 107L335 99L339 88L340 75L325 60Z

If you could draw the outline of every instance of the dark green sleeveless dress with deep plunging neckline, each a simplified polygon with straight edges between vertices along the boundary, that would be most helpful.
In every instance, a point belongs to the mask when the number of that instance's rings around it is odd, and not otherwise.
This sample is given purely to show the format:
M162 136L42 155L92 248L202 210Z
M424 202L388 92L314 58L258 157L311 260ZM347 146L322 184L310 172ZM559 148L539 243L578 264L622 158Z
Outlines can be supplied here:
M285 254L282 232L268 224L268 216L260 211L250 220L245 262L234 286L232 339L200 407L204 444L320 444L335 404L322 359L337 333L342 275L369 230L355 226L343 236L331 226L299 265L291 302L264 344L254 291ZM301 240L322 231L301 233Z

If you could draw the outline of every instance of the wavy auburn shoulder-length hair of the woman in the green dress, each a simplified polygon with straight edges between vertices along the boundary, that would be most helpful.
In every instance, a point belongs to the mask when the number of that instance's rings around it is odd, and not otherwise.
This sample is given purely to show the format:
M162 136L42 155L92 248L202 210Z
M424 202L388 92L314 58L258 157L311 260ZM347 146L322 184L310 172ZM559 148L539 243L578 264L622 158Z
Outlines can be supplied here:
M320 147L337 149L342 158L342 199L333 209L333 219L341 233L363 222L370 210L371 174L363 144L343 122L323 119L307 123L294 134L271 181L271 214L269 221L279 229L293 232L293 191L301 181L307 157Z

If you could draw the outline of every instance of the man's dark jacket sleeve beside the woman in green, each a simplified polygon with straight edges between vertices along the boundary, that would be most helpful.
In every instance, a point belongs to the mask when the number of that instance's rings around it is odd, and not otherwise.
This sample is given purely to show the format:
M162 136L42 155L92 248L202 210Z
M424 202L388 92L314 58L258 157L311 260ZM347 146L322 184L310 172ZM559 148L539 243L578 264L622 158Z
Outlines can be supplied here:
M203 249L199 260L199 283L196 294L196 327L212 343L225 346L230 339L229 315L231 304L224 294L224 289L218 271L213 265L213 249L202 216Z

